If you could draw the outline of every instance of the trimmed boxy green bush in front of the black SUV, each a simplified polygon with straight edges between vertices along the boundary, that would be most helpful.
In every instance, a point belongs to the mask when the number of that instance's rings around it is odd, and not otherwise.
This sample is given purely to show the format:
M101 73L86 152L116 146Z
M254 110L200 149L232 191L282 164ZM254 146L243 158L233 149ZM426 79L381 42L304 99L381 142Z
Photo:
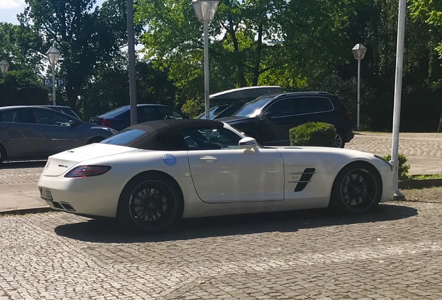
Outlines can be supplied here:
M309 122L290 128L290 144L292 146L334 147L336 128L323 122Z

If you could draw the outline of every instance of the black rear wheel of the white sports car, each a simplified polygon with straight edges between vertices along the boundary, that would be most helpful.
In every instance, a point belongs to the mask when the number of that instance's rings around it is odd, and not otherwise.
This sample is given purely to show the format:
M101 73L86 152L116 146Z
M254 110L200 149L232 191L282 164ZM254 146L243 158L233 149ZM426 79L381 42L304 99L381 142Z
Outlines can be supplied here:
M164 174L133 178L118 202L117 217L131 231L157 233L172 226L182 215L181 189Z

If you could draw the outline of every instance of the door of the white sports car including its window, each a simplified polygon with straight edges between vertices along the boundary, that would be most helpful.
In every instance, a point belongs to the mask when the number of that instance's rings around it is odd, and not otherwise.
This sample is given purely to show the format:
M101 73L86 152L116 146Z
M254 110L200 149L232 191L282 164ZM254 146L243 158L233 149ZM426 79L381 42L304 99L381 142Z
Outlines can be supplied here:
M275 149L238 149L225 128L183 132L195 190L207 203L284 200L284 164ZM233 136L234 135L234 136Z

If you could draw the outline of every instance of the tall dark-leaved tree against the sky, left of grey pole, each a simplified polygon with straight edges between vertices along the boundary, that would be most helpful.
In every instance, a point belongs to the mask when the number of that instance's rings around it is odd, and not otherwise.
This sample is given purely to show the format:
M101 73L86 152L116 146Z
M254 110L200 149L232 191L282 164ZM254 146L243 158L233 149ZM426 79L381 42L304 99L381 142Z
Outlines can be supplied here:
M125 3L108 0L101 9L95 0L26 0L26 4L19 21L44 36L40 53L52 45L60 50L67 104L75 108L93 70L115 56L126 41Z

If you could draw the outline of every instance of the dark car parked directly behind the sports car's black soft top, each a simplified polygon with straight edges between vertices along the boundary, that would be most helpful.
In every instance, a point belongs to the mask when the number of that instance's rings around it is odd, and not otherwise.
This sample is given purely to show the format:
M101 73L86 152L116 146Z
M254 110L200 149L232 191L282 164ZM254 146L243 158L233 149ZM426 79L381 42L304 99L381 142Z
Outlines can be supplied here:
M179 110L162 104L138 104L138 123L158 119L188 119L189 117ZM115 128L121 131L131 126L131 106L120 106L98 117L91 117L89 122Z

